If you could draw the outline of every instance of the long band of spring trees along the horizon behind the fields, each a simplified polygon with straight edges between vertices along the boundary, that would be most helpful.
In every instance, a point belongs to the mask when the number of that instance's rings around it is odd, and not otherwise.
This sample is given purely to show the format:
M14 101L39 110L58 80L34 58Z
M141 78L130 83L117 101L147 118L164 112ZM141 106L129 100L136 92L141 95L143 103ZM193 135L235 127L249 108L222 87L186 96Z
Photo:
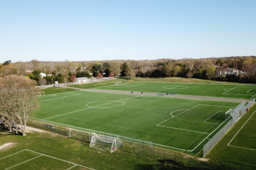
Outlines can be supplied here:
M239 75L218 76L216 68L234 68ZM31 72L29 72L31 71ZM40 73L47 74L41 78ZM222 57L206 59L107 60L81 62L15 62L0 65L1 76L25 75L38 85L72 82L76 77L187 77L228 82L256 83L256 57Z

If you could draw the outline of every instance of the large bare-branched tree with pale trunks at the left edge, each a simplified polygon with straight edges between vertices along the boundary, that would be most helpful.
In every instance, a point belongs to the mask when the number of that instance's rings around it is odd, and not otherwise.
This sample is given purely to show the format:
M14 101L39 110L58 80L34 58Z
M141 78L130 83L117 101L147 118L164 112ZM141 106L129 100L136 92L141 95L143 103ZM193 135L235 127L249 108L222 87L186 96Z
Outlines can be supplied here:
M23 136L29 113L38 107L36 84L24 76L10 75L0 79L0 119L7 122L10 129L19 124Z

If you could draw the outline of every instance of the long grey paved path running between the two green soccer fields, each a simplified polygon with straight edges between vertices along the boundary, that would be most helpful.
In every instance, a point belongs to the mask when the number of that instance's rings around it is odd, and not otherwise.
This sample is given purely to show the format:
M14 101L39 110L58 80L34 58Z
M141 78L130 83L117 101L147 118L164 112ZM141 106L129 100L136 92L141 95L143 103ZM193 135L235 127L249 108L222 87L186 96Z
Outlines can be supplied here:
M119 94L142 94L142 92L134 91L114 91L114 90L104 90L104 89L82 89L82 88L73 88L69 86L60 86L61 88L72 88L79 91L94 91L94 92L102 92L102 93L119 93ZM191 95L172 95L172 94L161 94L161 93L150 93L143 92L142 95L147 96L163 96L163 97L172 97L172 98L185 98L185 99L200 99L200 100L216 100L216 101L226 101L226 102L250 102L250 100L246 99L236 99L236 98L224 98L224 97L211 97L211 96L191 96Z

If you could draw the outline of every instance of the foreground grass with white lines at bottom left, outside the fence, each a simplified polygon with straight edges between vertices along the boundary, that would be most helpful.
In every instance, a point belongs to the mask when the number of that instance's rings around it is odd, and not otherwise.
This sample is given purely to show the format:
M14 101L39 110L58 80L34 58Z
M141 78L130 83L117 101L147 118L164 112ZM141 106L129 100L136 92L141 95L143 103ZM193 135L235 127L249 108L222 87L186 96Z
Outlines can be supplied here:
M0 146L9 142L14 143L14 145L0 150L0 169L6 169L22 162L22 164L13 167L13 169L27 170L36 168L41 170L58 170L61 168L68 169L73 166L67 162L52 159L47 156L35 158L38 155L30 153L29 151L9 156L21 150L28 149L96 170L189 170L187 167L170 162L161 162L156 159L122 151L108 153L92 149L89 147L88 143L81 143L73 139L55 136L49 133L30 132L27 133L27 136L20 136L0 131ZM9 157L1 159L6 156ZM72 169L78 168L79 167L74 167ZM86 168L79 169L85 170Z

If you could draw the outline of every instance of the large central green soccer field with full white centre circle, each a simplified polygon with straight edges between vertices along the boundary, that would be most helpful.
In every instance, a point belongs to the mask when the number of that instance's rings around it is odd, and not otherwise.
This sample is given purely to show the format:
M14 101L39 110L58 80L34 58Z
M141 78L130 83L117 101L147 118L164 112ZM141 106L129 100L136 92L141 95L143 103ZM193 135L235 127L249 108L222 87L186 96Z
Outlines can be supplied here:
M33 119L154 142L190 154L222 127L236 102L74 91L39 98Z

